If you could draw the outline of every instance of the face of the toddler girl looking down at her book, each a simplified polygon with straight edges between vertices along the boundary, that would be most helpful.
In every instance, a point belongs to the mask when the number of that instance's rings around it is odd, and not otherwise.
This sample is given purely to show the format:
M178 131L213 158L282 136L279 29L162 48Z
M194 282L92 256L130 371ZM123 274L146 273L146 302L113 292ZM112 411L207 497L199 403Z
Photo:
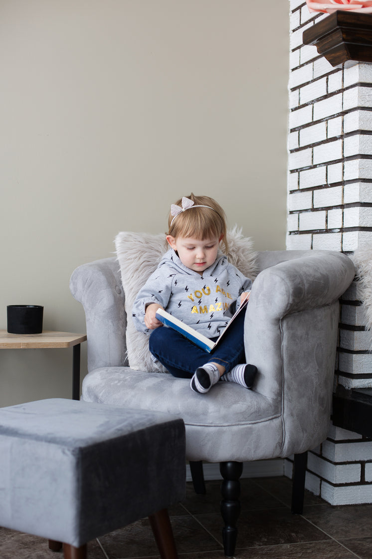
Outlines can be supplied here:
M205 269L211 266L218 252L220 240L218 237L212 239L193 239L191 237L177 237L175 239L171 235L167 236L167 241L172 249L177 250L183 266L186 266L200 275Z

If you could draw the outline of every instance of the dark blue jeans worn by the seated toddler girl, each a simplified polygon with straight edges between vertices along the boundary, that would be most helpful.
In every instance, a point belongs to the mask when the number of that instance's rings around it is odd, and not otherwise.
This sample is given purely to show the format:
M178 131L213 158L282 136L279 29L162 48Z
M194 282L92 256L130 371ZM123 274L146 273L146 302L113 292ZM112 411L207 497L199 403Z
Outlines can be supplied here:
M191 378L198 367L211 361L223 365L228 372L238 363L245 363L244 315L245 310L239 313L211 353L166 326L152 331L148 342L149 350L174 377ZM216 339L212 338L213 341Z

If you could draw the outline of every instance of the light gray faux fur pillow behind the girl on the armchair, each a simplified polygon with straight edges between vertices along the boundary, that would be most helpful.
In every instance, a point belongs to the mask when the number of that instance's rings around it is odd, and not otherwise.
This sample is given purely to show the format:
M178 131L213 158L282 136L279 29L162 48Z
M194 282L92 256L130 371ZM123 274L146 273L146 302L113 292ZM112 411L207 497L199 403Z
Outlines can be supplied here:
M258 269L257 253L253 250L252 239L243 237L241 229L235 225L228 232L228 243L227 257L231 264L254 280ZM165 235L123 231L115 238L115 248L125 293L125 312L128 317L126 339L129 367L135 371L166 372L160 363L155 364L151 358L148 350L148 335L138 332L131 319L132 306L138 291L168 250Z

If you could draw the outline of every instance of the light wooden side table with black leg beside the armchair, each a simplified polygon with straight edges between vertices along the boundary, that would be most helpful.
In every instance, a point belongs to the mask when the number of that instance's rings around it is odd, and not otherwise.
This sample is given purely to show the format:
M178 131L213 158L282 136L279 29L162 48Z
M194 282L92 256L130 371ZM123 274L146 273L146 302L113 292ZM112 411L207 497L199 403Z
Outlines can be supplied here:
M0 330L0 349L73 348L73 400L80 397L80 343L86 334L45 330L41 334L9 334Z

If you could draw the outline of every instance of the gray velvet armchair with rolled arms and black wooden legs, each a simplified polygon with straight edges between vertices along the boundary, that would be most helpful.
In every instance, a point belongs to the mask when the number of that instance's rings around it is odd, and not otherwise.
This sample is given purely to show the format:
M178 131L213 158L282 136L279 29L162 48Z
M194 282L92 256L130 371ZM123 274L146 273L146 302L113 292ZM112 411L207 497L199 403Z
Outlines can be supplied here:
M258 266L244 334L247 359L258 368L253 390L220 382L206 395L192 392L189 380L128 367L115 258L80 266L70 282L88 334L82 399L165 411L185 421L196 491L204 491L202 461L220 463L228 557L234 555L244 461L294 454L292 510L302 511L306 452L325 440L330 423L338 300L355 273L346 255L325 250L262 252Z

